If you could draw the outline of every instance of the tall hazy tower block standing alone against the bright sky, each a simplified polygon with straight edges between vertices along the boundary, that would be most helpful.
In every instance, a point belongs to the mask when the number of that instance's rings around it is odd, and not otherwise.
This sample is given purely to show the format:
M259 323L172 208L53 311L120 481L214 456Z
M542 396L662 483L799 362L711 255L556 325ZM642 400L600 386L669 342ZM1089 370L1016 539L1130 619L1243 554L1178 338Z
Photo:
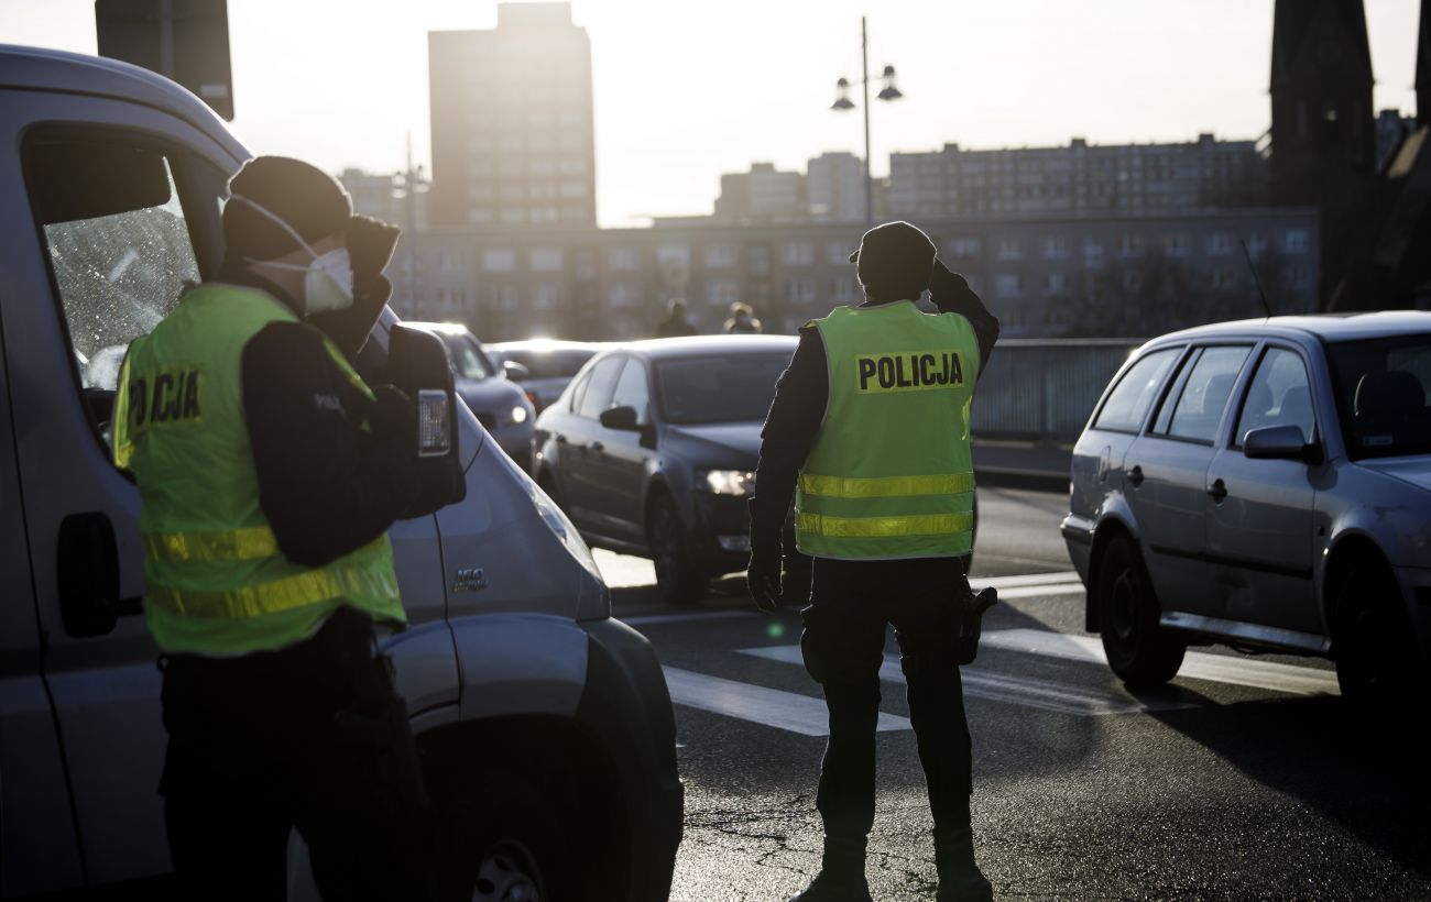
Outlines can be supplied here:
M594 226L591 40L570 3L499 3L497 27L429 31L432 222Z

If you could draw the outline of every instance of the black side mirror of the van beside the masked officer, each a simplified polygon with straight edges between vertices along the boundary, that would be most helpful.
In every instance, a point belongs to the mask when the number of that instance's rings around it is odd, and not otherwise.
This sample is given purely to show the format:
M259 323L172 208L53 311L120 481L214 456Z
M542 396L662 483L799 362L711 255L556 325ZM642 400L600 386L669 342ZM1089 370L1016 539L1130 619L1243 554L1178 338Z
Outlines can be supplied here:
M395 324L388 330L388 382L418 407L421 487L405 519L426 516L467 497L467 477L456 447L456 390L442 339Z

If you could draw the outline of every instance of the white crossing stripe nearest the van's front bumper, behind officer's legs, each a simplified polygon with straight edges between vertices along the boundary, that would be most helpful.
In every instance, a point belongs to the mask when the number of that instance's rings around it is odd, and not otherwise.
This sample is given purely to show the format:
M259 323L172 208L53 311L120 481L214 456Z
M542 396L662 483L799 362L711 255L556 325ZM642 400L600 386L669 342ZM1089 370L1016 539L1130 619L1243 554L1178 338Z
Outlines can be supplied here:
M675 705L750 720L803 736L830 735L830 713L823 699L677 668L661 668L661 670L665 672L665 686ZM876 729L889 732L912 728L909 718L880 712Z

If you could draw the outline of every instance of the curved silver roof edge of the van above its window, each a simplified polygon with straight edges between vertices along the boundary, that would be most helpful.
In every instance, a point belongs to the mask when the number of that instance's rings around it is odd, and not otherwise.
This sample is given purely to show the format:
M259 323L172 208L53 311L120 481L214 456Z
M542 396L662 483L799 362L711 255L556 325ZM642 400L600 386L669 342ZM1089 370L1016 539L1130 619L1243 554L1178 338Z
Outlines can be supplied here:
M236 160L250 154L209 104L169 79L119 60L46 47L0 44L0 89L60 91L142 103L200 129Z

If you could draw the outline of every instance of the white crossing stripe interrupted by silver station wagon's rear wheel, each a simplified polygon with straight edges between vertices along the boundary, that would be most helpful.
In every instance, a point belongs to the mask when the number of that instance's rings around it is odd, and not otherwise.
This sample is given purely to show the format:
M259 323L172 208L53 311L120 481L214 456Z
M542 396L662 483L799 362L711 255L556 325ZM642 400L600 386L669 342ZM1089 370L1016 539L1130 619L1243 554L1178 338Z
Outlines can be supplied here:
M1013 652L1108 665L1103 643L1096 636L1070 636L1045 629L995 629L985 630L980 642L990 648ZM1186 658L1182 659L1178 676L1234 686L1251 686L1254 689L1271 689L1272 692L1286 692L1289 695L1341 693L1337 686L1337 673L1332 670L1299 668L1271 660L1228 658L1226 655L1209 655L1208 652L1188 652Z

